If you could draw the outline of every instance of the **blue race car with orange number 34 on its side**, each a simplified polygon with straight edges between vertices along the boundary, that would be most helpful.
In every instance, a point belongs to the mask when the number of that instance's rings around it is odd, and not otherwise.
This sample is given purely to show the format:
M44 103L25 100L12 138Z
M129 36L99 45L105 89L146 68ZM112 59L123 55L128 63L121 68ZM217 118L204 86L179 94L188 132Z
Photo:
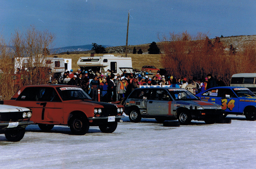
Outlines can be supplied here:
M256 120L256 95L243 87L216 87L196 95L200 100L221 105L228 114L245 115L247 120Z

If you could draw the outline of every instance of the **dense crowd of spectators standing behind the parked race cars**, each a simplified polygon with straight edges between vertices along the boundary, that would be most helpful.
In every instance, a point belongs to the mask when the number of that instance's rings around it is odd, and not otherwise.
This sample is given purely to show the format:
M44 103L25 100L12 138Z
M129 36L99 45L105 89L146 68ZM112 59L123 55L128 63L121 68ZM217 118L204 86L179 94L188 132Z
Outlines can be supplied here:
M92 70L81 71L73 70L64 72L59 78L59 84L67 84L81 87L94 101L98 101L98 89L100 89L101 102L115 102L121 101L123 97L127 97L130 93L140 86L151 85L169 85L173 88L184 88L193 94L204 92L206 89L225 86L223 81L212 77L208 74L203 79L187 80L185 77L176 78L175 76L161 75L159 72L151 77L146 72L142 74L128 74L125 70L120 76L116 76L111 70L107 71L106 76L100 72L93 72Z

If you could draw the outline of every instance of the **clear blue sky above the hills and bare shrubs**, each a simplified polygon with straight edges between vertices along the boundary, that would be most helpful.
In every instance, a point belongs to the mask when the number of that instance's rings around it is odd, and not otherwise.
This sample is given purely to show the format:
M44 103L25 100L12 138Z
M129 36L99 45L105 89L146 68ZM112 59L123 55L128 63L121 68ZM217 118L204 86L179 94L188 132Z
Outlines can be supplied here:
M209 38L256 35L255 0L0 0L7 41L30 25L56 35L55 46L122 46L158 42L157 34L187 31Z

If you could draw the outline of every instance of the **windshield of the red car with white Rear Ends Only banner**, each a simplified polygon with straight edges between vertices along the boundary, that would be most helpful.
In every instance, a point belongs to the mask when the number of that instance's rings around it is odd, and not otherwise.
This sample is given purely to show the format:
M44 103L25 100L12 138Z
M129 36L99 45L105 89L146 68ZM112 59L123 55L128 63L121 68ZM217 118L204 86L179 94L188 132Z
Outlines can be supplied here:
M82 88L78 87L60 87L57 88L58 93L63 101L66 100L92 100Z

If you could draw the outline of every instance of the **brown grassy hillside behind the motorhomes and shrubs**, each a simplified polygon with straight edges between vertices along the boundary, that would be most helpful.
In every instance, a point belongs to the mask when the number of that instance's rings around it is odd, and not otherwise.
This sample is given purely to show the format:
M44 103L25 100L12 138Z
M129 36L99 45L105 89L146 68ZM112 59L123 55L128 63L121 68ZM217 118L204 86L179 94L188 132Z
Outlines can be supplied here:
M213 41L214 39L212 39ZM233 47L236 47L237 51L243 51L242 46L245 44L250 44L256 41L256 35L251 36L231 36L231 37L222 37L220 41L223 42L225 46L225 50L229 50L229 46L232 44ZM162 49L162 45L160 42L156 43L157 46ZM128 46L128 57L132 57L132 65L134 69L141 69L144 65L154 65L157 68L163 68L161 64L162 56L161 54L148 54L148 48L150 44L142 44L142 45L129 45ZM132 54L133 48L136 47L138 51L141 49L143 54ZM114 54L115 56L125 55L125 46L115 46L115 47L108 47L106 48L108 54ZM68 55L67 53L60 53L55 54L55 56L59 56L60 58L71 58L72 59L72 69L78 69L77 60L79 57L83 56L90 56L90 53L93 51L84 51L84 52L70 52ZM102 56L103 54L96 54L96 56Z

